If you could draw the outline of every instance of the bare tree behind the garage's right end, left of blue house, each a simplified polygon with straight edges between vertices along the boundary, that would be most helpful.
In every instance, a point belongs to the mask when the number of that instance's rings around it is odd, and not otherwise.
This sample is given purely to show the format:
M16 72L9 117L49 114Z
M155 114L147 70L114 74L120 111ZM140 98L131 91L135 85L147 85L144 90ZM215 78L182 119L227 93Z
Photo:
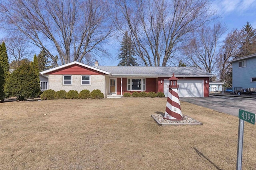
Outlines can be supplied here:
M211 73L217 62L218 41L225 31L226 27L220 23L214 24L213 28L204 26L194 31L182 50L186 65L196 66Z

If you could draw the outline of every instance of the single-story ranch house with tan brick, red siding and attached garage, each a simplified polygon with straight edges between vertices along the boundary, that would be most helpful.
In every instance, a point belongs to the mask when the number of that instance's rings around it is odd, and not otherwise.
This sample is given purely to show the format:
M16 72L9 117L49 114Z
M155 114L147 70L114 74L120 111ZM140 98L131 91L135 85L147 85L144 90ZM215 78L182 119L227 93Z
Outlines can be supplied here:
M209 97L208 82L214 76L195 67L98 66L98 61L94 67L74 61L40 73L49 75L49 89L99 89L105 98L133 92L164 92L167 96L167 79L173 74L179 79L180 97ZM65 83L66 77L71 84Z

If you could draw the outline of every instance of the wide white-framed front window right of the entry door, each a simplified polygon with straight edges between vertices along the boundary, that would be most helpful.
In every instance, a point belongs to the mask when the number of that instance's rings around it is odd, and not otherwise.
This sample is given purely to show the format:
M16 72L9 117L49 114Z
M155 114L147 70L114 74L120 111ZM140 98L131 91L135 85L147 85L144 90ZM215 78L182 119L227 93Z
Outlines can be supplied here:
M143 89L142 89L143 82ZM127 90L146 90L146 78L128 78L127 79Z

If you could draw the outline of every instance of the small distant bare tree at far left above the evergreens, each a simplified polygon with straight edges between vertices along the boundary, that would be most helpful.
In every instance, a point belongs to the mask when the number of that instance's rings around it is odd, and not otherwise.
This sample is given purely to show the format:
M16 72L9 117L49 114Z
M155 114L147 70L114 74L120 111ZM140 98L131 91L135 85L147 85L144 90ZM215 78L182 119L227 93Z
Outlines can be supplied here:
M21 61L23 59L33 57L34 50L30 43L24 37L13 35L4 37L3 41L6 43L6 49L10 61Z

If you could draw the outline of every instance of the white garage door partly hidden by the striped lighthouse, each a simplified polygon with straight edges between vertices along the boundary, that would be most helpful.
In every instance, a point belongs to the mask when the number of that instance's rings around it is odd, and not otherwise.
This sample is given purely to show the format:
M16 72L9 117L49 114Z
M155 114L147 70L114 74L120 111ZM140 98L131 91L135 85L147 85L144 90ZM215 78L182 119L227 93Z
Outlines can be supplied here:
M164 95L168 95L170 80L164 80ZM203 80L178 80L180 97L204 97Z

